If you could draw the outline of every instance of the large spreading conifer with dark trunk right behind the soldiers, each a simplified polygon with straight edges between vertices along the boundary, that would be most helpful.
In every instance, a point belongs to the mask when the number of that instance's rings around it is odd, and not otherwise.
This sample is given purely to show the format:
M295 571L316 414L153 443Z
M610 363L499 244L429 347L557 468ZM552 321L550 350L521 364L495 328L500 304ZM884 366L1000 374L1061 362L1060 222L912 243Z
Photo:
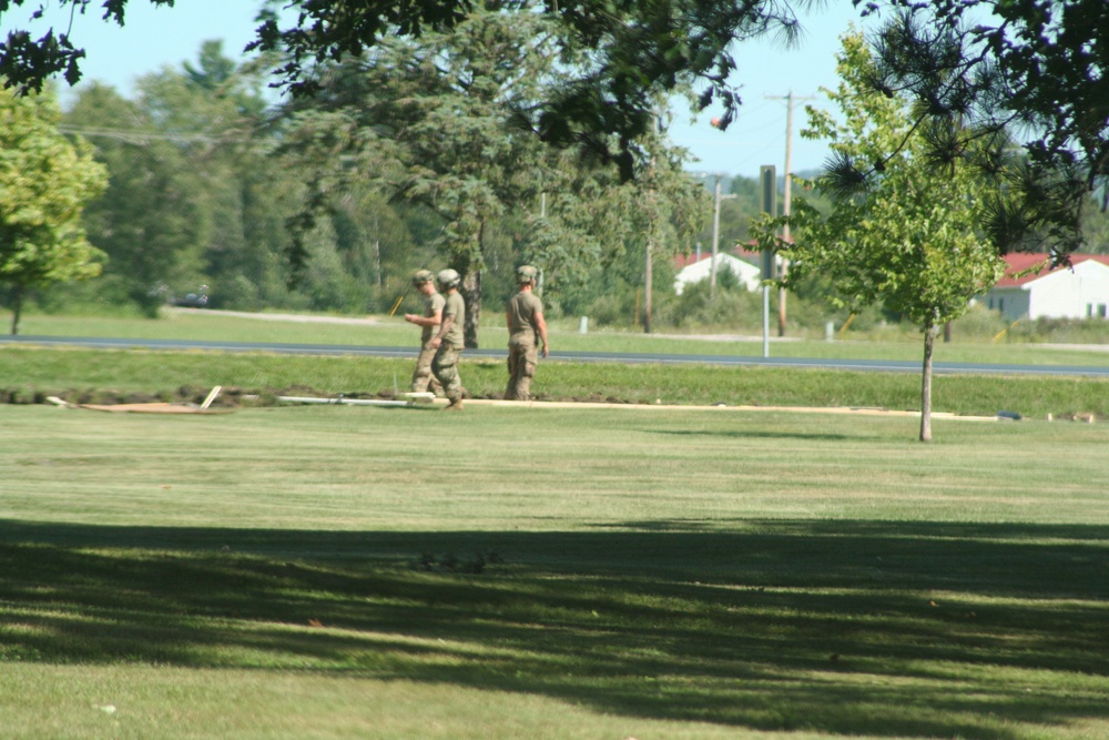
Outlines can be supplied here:
M327 69L302 99L286 148L308 173L313 204L334 210L368 184L442 223L436 243L462 276L467 346L477 346L486 249L510 204L538 193L539 142L506 125L556 58L538 14L475 13L451 31L378 44ZM314 226L306 214L302 226ZM301 230L303 231L303 230ZM294 265L306 262L294 245Z

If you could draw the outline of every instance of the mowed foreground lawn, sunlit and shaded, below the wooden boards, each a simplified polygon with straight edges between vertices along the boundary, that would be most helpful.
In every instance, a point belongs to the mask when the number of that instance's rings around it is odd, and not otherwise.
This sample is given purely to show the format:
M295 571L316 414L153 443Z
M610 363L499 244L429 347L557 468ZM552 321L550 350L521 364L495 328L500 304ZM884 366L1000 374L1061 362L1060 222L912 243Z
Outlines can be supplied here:
M0 406L4 738L1109 737L1109 426Z

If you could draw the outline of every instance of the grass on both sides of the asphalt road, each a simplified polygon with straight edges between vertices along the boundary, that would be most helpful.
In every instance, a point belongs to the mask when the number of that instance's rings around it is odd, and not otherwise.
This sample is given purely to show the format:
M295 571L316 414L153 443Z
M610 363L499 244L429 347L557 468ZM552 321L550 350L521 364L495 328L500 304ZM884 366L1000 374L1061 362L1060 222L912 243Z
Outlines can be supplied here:
M298 321L266 320L205 311L169 312L165 318L63 317L31 315L28 335L180 338L285 344L414 345L415 332L401 320L372 323L323 317ZM311 318L314 321L304 321ZM499 347L503 328L482 328L486 347ZM762 342L645 336L602 332L579 334L569 325L552 328L557 351L661 352L760 356ZM865 359L917 358L919 337L886 342L776 342L773 356L847 357ZM937 361L1038 365L1100 365L1105 352L991 342L956 342L937 347ZM190 401L200 403L220 385L217 403L233 403L243 394L344 394L348 397L389 396L404 391L413 361L366 357L273 355L265 353L149 352L41 349L3 346L0 349L0 401L43 403L50 395L82 403L119 401ZM502 362L465 358L462 377L475 397L500 397L505 388ZM533 393L540 401L613 401L635 404L855 406L918 409L917 373L857 373L771 367L695 365L601 365L542 363ZM936 412L993 416L999 410L1031 418L1109 417L1109 382L1086 377L1004 377L940 375L935 381Z

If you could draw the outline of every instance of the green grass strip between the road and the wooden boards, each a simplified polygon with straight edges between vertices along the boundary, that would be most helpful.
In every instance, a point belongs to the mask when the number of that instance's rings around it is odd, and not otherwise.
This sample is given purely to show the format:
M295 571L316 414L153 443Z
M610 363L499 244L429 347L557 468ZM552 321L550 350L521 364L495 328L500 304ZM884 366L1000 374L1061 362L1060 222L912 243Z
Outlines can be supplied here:
M0 397L42 402L50 395L81 403L177 401L200 403L225 388L220 403L242 395L336 395L391 397L405 391L411 359L227 354L215 352L87 351L4 347L0 351ZM505 389L500 362L466 361L466 387L474 397L498 398ZM918 409L915 373L825 369L542 363L533 392L541 401L611 401L679 405L859 406ZM1109 415L1109 382L1082 377L940 375L934 409L993 416L1067 418Z

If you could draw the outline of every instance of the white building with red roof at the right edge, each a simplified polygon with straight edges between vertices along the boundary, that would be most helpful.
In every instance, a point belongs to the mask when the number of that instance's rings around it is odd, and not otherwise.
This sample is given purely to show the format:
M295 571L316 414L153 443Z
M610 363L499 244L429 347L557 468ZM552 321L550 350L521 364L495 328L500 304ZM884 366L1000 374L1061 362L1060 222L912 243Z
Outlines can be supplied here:
M1009 321L1109 317L1109 256L1072 254L1070 267L1050 268L1046 254L1009 254L1005 276L979 298ZM1028 274L1020 275L1026 271Z

